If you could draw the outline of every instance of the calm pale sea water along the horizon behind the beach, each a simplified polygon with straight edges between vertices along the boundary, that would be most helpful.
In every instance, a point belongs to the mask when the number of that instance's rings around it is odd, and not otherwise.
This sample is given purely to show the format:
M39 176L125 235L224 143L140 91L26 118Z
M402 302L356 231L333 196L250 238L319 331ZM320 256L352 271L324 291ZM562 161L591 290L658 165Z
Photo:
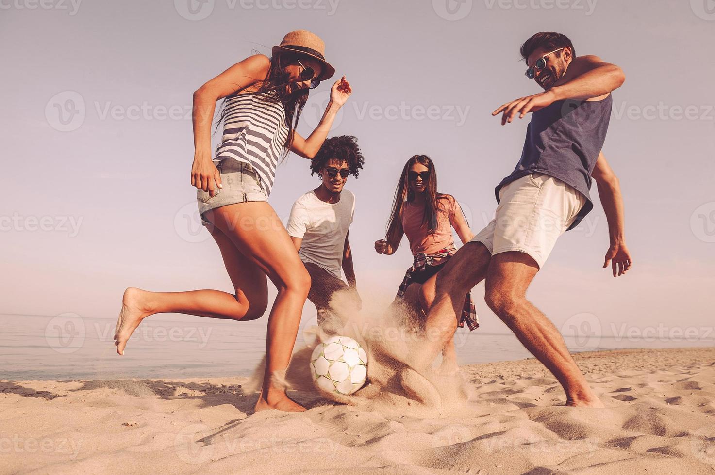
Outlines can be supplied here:
M248 376L265 354L267 317L237 322L183 315L152 316L129 340L125 356L117 355L112 340L114 319L75 314L2 314L0 321L0 379ZM583 329L584 322L578 323ZM304 316L296 348L305 344L302 330L314 324L315 318ZM646 341L594 336L588 334L588 328L583 329L583 334L565 339L571 351L713 345L711 339ZM455 346L460 364L531 357L508 331L458 329Z

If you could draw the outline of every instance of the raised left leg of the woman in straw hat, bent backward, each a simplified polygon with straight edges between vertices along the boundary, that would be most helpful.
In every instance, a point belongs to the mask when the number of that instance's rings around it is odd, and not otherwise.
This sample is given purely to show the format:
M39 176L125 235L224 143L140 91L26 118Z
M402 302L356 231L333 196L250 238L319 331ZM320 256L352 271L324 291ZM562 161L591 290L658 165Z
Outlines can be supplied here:
M244 256L222 231L214 227L211 234L221 250L236 293L208 289L151 292L129 287L122 297L122 311L114 334L117 353L124 355L129 336L143 319L154 314L171 312L212 319L255 320L265 313L268 304L265 272Z

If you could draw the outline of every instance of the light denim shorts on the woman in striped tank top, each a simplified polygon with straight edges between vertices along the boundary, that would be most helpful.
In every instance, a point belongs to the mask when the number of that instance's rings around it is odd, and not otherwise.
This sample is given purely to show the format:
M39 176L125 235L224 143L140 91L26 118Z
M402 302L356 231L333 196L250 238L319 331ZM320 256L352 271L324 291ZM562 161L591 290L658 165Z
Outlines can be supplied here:
M214 196L202 189L197 190L196 199L199 204L201 224L204 226L210 224L204 214L212 209L246 201L268 201L268 195L250 164L235 159L223 159L214 163L221 174L223 188L217 188Z

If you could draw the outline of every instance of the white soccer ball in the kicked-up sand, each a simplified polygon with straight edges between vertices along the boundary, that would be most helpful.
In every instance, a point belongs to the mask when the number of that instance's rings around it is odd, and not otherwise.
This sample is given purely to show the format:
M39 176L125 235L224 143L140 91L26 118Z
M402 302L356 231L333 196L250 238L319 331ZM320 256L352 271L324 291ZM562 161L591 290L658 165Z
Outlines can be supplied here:
M349 336L333 336L315 346L310 369L315 383L323 391L352 394L365 384L368 355Z

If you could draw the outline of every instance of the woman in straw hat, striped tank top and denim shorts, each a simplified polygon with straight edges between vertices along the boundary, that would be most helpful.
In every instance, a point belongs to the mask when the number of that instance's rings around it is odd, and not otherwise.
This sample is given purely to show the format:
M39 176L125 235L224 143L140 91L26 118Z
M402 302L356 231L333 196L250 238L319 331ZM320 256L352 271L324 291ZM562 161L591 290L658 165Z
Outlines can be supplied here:
M267 196L276 166L289 151L312 159L352 89L345 76L330 90L320 123L307 138L295 132L310 89L330 79L325 44L310 31L291 31L272 49L234 64L194 92L194 163L202 222L218 244L235 294L217 290L124 291L114 335L124 354L129 336L147 316L176 312L215 319L253 320L267 309L267 279L278 290L267 331L265 378L256 411L303 411L280 384L290 360L310 276ZM211 154L211 121L225 98L222 142Z

